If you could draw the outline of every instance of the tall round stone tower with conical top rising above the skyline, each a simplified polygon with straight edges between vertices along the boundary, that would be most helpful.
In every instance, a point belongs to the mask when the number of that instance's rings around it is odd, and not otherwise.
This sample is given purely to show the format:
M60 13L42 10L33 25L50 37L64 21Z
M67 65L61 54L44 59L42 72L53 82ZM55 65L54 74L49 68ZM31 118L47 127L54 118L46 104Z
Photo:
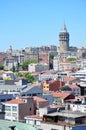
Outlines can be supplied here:
M60 52L69 51L69 33L67 32L65 24L59 34L59 42L60 42Z

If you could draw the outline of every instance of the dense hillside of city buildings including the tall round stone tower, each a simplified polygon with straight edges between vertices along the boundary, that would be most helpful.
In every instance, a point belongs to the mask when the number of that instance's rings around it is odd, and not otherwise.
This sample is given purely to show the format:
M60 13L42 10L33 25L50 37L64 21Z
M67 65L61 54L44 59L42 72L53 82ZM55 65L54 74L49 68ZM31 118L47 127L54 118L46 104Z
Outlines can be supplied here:
M1 121L38 130L86 128L86 48L69 45L65 25L59 42L0 52Z

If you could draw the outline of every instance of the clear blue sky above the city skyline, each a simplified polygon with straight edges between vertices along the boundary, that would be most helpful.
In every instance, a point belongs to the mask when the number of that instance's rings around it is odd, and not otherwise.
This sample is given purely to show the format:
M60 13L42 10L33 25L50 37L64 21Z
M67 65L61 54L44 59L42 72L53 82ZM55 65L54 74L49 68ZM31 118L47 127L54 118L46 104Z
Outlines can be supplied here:
M59 46L64 21L70 46L86 46L86 0L0 0L0 51Z

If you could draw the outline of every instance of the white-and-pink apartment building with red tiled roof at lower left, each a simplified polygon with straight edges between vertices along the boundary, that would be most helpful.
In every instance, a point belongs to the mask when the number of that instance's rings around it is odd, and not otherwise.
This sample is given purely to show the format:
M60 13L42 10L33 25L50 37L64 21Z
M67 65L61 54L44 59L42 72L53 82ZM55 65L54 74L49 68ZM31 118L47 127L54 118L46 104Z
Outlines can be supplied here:
M34 100L24 96L5 102L5 119L11 121L24 121L24 117L34 114Z

